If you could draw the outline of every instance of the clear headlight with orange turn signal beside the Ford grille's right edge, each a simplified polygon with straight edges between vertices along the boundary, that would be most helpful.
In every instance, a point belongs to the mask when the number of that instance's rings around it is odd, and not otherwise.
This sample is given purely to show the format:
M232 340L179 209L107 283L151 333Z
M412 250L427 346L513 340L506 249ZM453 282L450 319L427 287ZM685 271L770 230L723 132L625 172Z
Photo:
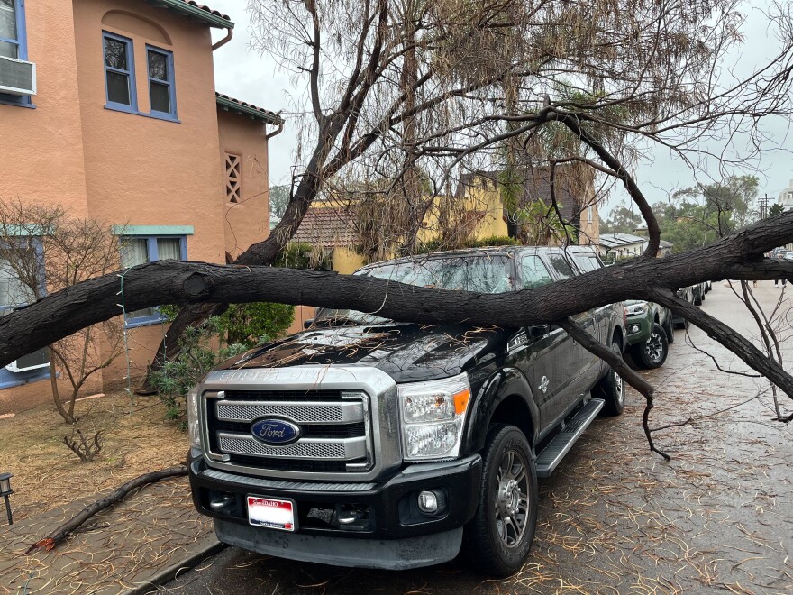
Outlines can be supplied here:
M432 461L458 456L470 401L468 374L400 384L396 390L402 412L405 460Z

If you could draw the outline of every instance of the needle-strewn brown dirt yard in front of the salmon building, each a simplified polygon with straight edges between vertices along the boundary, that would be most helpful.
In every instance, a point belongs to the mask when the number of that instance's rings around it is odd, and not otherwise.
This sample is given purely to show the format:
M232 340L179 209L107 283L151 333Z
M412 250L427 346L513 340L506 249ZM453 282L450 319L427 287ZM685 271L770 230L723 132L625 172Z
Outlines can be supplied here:
M184 460L187 434L166 419L160 399L132 400L132 415L123 391L77 402L75 427L90 436L102 432L102 451L87 463L63 444L72 427L54 405L0 419L0 471L14 473L15 521Z

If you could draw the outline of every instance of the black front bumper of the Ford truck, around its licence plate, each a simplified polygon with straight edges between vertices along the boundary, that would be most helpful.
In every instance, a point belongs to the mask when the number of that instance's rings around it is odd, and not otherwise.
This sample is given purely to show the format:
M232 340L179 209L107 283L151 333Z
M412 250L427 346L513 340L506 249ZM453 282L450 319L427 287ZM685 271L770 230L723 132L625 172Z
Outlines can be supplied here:
M224 543L369 568L405 569L454 558L462 527L476 512L482 479L479 454L406 465L385 481L368 483L269 480L218 471L207 467L198 451L191 451L187 462L193 502L200 513L214 517ZM434 512L418 506L424 491L436 496ZM291 500L296 530L251 526L248 496Z

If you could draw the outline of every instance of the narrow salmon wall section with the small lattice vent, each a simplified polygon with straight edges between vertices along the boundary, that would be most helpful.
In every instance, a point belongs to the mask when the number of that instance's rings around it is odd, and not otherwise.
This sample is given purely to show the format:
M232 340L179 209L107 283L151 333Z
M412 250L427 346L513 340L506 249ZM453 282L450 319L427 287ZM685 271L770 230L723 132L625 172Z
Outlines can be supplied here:
M236 257L251 243L269 235L269 175L265 125L250 117L217 112L220 137L221 179L218 196L225 210L225 250ZM225 154L238 155L241 161L242 201L226 199Z

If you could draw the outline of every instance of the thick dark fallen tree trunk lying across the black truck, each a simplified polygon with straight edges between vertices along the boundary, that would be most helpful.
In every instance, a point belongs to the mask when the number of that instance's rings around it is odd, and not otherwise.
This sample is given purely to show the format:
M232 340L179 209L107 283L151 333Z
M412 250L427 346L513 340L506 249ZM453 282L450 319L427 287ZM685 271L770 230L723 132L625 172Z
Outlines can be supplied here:
M426 324L536 325L566 318L625 298L657 301L682 314L736 352L793 397L793 377L728 326L690 307L673 290L702 280L793 281L793 263L762 253L793 241L793 212L725 238L706 248L662 259L642 258L595 270L552 285L503 294L421 288L385 279L310 270L158 261L124 275L125 304L226 304L273 301L355 308L395 320ZM40 349L87 325L118 316L118 275L89 279L0 318L0 365ZM87 305L90 304L90 307Z

